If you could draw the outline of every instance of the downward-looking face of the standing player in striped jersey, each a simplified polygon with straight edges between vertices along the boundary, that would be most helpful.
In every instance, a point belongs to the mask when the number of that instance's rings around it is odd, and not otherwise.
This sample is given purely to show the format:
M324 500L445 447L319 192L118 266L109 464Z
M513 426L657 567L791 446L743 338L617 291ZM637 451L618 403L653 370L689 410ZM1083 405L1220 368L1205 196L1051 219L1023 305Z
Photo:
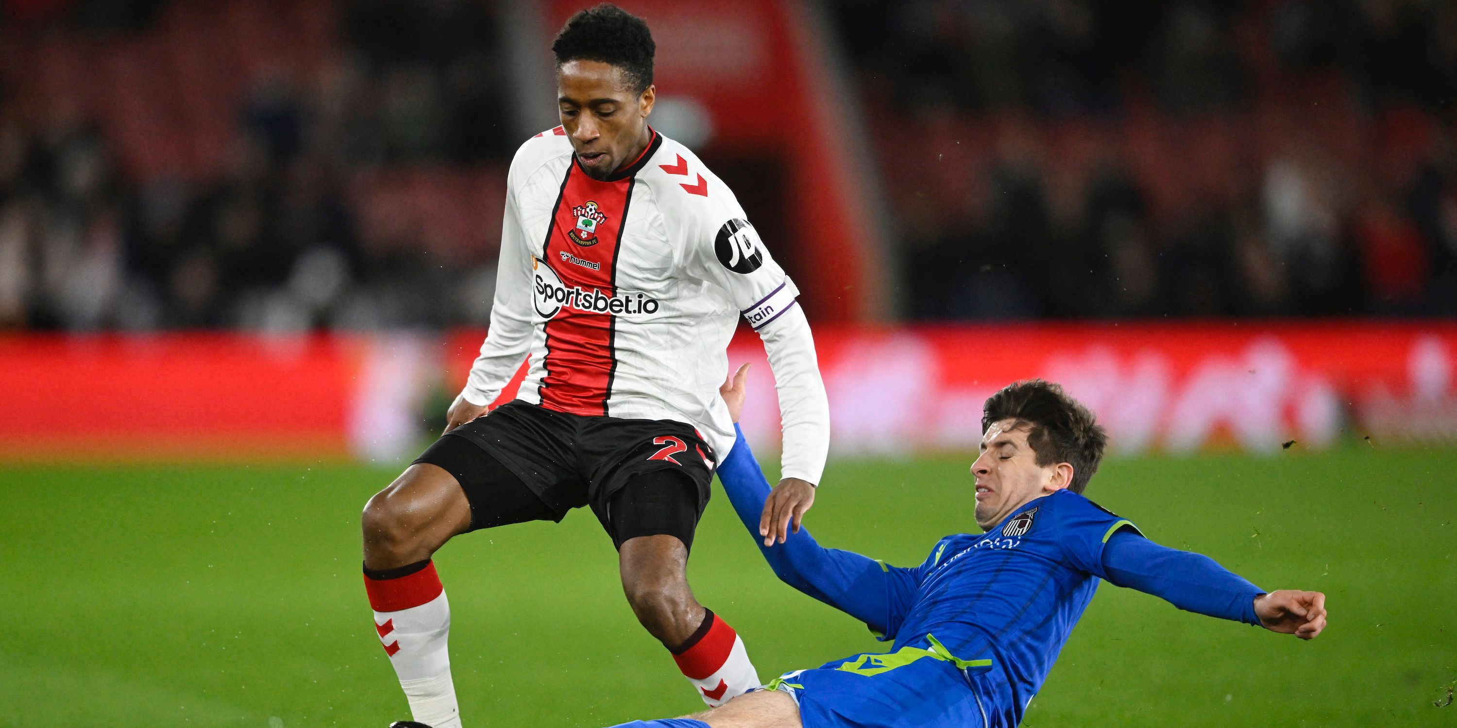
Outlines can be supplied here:
M561 125L589 176L605 179L647 147L656 89L637 93L622 68L602 61L568 61L557 68Z

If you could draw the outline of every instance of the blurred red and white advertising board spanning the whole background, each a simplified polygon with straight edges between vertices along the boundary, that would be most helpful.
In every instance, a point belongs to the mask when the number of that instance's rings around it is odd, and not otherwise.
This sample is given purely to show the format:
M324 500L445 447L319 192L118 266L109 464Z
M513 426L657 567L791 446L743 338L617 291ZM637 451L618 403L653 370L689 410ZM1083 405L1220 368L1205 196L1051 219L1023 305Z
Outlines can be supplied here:
M0 336L0 459L392 463L431 437L482 335ZM816 342L841 456L973 448L982 402L1026 377L1091 406L1119 453L1457 446L1451 322L822 328ZM752 332L728 363L753 364L745 431L775 447Z

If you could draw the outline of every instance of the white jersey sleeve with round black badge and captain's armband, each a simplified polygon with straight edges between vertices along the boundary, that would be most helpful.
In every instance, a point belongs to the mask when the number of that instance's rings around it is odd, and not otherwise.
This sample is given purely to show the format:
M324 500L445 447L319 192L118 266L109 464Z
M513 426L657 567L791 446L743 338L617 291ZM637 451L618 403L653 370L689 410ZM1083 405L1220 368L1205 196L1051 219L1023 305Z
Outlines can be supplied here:
M739 201L717 178L682 215L686 271L723 290L763 339L784 427L781 475L819 483L829 453L829 399L796 297L798 288L769 255Z

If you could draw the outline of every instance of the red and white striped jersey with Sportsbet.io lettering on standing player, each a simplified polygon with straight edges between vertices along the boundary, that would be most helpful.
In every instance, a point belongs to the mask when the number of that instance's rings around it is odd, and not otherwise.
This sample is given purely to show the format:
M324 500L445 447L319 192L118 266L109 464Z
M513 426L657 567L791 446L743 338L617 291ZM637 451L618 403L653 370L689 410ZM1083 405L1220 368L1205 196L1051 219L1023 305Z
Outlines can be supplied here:
M558 127L511 162L491 328L462 396L494 400L530 354L519 399L688 422L723 456L734 435L718 386L745 316L779 389L784 475L817 483L829 406L796 296L733 192L686 147L654 131L599 181Z

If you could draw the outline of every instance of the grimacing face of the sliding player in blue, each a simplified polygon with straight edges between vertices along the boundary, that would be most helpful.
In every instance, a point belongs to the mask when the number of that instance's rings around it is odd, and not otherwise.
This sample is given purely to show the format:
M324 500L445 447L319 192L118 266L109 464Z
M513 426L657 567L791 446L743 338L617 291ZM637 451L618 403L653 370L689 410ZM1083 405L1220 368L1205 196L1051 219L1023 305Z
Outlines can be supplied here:
M1037 454L1027 446L1027 431L1029 427L1016 419L1001 419L982 435L982 454L972 463L976 526L982 530L997 526L1027 501L1067 488L1071 466L1037 464Z

